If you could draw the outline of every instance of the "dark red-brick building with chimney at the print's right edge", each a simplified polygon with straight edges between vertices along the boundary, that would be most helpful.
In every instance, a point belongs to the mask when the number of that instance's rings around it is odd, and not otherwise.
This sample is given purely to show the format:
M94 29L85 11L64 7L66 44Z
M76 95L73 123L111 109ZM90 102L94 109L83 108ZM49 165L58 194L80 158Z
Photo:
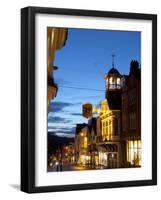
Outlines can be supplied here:
M122 78L122 137L126 141L129 166L141 166L141 70L131 61L128 76Z

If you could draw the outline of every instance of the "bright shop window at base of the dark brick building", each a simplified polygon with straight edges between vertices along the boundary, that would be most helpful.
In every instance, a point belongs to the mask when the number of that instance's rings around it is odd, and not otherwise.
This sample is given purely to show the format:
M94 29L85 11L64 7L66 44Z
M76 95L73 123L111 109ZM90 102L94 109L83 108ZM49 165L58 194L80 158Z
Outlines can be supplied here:
M141 140L129 140L126 145L127 161L132 166L141 166Z

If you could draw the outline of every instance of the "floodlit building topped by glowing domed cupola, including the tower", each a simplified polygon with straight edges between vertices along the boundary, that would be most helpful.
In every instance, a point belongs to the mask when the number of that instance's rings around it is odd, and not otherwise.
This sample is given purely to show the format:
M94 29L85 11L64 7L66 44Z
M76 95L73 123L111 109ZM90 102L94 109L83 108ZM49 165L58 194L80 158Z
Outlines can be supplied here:
M104 78L105 99L99 112L101 134L97 137L99 165L118 168L123 167L125 162L125 144L121 138L122 75L113 65Z

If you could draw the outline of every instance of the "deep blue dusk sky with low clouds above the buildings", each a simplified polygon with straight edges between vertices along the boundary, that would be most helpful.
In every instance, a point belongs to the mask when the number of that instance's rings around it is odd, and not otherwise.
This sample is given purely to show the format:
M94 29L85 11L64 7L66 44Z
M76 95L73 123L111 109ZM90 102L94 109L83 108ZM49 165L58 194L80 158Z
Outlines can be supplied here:
M141 62L141 33L68 29L65 46L55 54L58 93L49 109L48 132L74 137L76 124L87 123L82 104L97 106L105 98L104 75L112 67L112 54L116 55L115 68L129 74L131 60Z

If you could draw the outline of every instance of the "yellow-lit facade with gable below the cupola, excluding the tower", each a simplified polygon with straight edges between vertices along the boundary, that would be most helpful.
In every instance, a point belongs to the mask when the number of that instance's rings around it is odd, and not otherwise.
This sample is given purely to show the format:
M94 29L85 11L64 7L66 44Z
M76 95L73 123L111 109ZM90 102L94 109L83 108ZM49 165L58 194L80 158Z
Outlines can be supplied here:
M105 108L105 102L107 107ZM108 168L123 165L123 152L121 141L121 115L120 110L108 109L107 100L103 102L100 112L101 136L97 137L99 147L99 164Z

